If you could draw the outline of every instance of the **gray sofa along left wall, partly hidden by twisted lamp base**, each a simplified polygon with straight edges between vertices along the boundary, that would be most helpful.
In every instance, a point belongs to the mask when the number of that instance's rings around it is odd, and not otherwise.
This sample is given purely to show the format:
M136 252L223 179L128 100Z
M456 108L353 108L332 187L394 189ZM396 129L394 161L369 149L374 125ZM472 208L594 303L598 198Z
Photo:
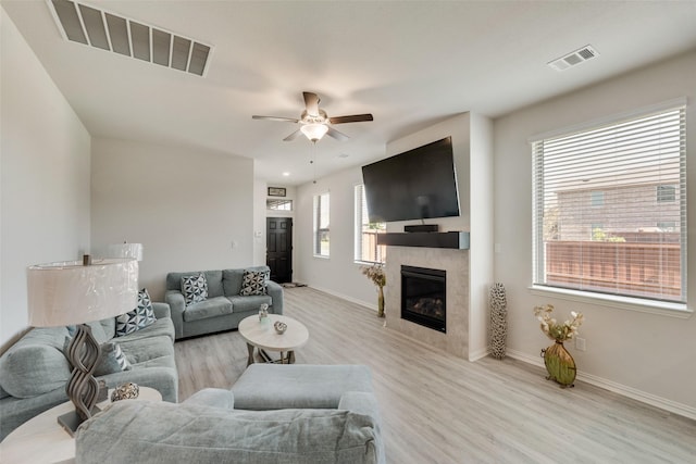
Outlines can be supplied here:
M152 303L152 309L153 324L122 337L114 338L114 318L89 324L99 343L113 340L132 365L129 371L97 379L109 388L133 381L159 390L164 401L176 402L174 325L166 303ZM63 354L67 336L65 327L33 328L0 358L0 440L32 417L67 401L71 367Z

